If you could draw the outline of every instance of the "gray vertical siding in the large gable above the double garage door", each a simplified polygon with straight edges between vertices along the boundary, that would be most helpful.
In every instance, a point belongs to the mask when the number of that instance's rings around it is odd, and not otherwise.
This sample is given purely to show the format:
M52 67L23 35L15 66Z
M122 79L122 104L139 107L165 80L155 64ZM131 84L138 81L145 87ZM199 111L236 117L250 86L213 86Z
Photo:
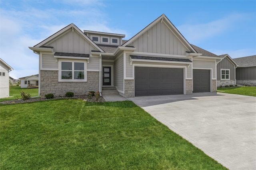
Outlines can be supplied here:
M188 50L164 22L156 23L129 45L147 53L185 55Z

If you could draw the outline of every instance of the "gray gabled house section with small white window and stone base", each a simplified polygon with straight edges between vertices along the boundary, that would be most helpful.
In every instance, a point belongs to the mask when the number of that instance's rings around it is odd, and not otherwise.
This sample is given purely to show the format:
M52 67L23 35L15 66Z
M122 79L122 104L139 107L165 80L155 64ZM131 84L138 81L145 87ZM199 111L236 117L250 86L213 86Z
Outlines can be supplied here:
M220 55L217 61L217 87L236 85L236 67L238 64L228 55Z

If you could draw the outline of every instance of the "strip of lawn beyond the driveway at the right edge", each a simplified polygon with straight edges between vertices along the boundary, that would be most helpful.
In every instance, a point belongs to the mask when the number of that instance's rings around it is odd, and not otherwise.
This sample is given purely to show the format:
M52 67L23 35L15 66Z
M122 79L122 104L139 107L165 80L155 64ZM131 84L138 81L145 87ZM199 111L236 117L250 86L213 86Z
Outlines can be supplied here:
M217 88L223 93L240 94L245 96L256 96L256 87L232 87L232 88Z

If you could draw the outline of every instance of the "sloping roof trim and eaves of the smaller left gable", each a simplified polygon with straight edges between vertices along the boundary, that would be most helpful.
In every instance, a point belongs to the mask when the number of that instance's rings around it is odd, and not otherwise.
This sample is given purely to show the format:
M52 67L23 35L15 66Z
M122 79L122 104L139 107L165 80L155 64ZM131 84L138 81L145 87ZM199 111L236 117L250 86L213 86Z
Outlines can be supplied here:
M85 35L85 33L83 33L76 25L74 25L74 23L71 23L70 25L62 28L60 31L54 33L53 35L51 35L50 37L46 38L45 40L41 41L40 43L38 43L37 45L34 45L34 47L44 47L44 45L46 45L49 41L52 41L52 39L57 38L58 36L62 35L64 32L66 32L68 29L75 29L78 33L80 33L80 35L82 35L82 37L84 37L84 39L86 39L89 43L91 43L96 49L98 49L98 51L100 52L104 52L98 45L96 45L96 43L94 43L89 37L87 37L87 35ZM48 47L49 48L49 47ZM30 49L33 50L33 47L31 47Z

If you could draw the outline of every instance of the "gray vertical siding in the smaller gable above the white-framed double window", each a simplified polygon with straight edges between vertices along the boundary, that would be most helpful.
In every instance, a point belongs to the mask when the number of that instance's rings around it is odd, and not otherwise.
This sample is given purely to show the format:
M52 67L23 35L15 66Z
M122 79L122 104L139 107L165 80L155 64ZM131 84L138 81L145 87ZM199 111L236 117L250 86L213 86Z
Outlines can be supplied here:
M71 29L45 46L53 47L54 52L62 53L90 54L90 51L97 50L76 30Z

